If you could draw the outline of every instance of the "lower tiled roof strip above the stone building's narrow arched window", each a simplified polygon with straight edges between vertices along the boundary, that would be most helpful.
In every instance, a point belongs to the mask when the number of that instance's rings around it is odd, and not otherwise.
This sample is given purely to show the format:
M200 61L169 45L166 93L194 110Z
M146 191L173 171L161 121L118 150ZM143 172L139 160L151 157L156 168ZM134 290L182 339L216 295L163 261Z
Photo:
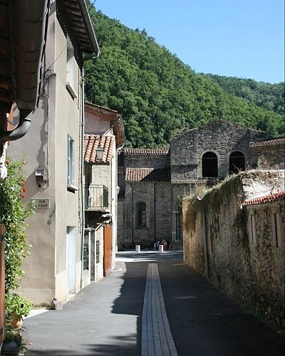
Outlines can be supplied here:
M170 182L170 169L127 168L127 182Z

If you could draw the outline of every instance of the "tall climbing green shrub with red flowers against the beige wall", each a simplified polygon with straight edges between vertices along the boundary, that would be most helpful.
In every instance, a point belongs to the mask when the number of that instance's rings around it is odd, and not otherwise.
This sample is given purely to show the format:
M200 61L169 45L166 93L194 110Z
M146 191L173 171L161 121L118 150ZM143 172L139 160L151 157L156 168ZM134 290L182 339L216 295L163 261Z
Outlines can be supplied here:
M28 306L22 295L14 293L19 288L19 281L24 276L21 267L23 258L28 256L30 246L26 242L26 219L33 212L33 202L24 204L26 177L24 159L6 160L8 176L0 183L0 224L5 226L5 303L6 320L11 313L11 305ZM20 300L21 299L21 300ZM26 312L25 312L26 313Z

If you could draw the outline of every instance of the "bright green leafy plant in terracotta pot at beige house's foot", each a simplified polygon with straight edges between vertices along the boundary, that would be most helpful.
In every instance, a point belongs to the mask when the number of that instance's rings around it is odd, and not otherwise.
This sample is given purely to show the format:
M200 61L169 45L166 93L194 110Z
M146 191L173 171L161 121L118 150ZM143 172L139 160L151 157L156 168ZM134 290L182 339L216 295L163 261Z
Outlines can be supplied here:
M23 317L28 316L31 311L31 300L28 300L21 293L7 293L5 295L6 325L11 330L21 328Z

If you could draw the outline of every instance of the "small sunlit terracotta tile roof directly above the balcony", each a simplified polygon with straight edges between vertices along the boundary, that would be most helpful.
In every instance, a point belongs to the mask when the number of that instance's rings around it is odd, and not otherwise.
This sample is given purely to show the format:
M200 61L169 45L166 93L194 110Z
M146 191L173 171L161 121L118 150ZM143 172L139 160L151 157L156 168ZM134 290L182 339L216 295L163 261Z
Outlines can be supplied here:
M97 159L96 150L103 147L103 158ZM110 162L115 149L115 136L84 135L84 162Z

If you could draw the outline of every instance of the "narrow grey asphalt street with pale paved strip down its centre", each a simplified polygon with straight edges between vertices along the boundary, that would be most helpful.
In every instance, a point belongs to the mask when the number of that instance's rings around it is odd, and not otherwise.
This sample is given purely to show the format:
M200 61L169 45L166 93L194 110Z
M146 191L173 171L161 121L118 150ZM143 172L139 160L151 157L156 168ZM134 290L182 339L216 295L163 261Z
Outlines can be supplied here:
M24 320L26 355L284 355L284 337L185 265L182 252L119 252L117 261L63 310Z

